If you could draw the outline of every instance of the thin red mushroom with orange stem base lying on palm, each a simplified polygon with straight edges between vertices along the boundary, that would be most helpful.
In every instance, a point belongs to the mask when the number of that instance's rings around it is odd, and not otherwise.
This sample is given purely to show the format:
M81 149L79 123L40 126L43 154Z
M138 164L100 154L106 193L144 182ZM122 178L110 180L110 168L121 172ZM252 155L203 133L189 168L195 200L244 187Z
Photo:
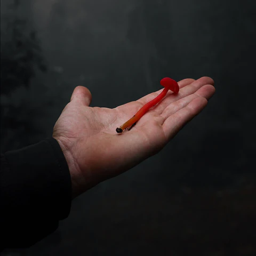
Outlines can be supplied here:
M164 90L153 100L149 101L144 105L131 119L125 122L123 125L116 129L117 133L122 133L124 129L127 127L135 125L135 123L151 108L154 107L159 101L161 101L168 90L173 91L174 93L179 92L179 85L178 83L169 77L164 77L161 79L160 84L163 85L165 88Z

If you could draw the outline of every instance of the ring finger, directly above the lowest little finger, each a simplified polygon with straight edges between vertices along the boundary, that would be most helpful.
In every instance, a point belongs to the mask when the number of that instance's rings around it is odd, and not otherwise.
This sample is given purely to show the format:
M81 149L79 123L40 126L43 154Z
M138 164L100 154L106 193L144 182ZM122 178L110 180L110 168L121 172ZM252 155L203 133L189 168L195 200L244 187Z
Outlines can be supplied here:
M186 96L185 98L179 99L177 101L172 102L169 106L167 106L161 116L165 121L169 116L173 115L177 111L182 108L185 108L191 101L198 97L203 97L206 100L209 100L215 92L214 86L210 84L206 84L197 90L195 93Z

